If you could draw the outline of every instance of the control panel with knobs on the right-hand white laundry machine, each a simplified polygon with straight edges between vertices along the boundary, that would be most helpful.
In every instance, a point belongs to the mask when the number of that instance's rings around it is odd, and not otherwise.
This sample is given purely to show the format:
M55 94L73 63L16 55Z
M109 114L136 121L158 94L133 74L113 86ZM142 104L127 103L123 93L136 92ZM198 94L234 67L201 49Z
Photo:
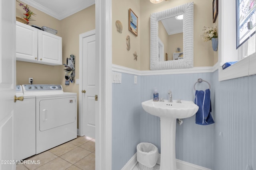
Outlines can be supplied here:
M22 87L26 92L62 91L62 86L55 84L23 84Z

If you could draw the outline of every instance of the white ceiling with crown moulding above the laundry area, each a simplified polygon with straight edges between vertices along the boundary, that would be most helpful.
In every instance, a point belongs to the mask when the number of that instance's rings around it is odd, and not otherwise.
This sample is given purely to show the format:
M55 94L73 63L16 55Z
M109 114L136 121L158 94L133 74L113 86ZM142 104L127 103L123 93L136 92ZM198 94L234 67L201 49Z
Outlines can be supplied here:
M93 4L95 0L19 0L58 20L62 20Z

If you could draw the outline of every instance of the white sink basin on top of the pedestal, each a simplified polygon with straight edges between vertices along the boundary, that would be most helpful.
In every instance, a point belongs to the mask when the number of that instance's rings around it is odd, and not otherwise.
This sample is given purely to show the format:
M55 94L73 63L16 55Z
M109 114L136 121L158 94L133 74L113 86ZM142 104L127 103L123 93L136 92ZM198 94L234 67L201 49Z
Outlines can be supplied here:
M168 100L164 100L164 102L148 100L142 102L142 107L151 115L167 119L183 119L191 117L198 111L198 106L194 104L194 102L185 100L182 100L181 102L182 103L177 103L176 100L173 100L172 103L169 103Z

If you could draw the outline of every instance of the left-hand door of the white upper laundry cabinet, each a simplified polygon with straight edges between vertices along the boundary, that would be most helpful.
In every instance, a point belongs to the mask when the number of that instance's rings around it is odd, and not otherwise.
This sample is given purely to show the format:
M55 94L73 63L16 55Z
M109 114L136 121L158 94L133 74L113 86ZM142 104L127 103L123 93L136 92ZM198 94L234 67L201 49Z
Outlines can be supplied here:
M38 29L16 21L16 59L37 61ZM8 40L6 40L8 41Z

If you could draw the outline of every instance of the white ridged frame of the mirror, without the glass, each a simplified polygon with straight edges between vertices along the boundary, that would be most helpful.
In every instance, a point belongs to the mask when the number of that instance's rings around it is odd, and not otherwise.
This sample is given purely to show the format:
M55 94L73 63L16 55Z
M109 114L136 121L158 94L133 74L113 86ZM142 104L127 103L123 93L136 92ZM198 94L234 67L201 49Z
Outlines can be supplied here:
M183 59L159 61L158 21L183 14ZM194 66L194 2L156 12L150 16L150 70L192 68Z

